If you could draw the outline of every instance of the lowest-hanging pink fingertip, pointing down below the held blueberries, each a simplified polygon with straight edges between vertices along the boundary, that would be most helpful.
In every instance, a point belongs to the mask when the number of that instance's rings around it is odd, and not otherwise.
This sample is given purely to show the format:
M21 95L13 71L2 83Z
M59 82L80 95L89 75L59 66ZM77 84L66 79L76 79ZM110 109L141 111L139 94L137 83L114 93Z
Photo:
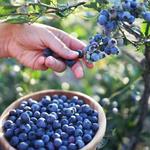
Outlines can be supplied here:
M77 79L80 79L84 76L83 67L80 62L77 62L75 65L73 65L71 70Z

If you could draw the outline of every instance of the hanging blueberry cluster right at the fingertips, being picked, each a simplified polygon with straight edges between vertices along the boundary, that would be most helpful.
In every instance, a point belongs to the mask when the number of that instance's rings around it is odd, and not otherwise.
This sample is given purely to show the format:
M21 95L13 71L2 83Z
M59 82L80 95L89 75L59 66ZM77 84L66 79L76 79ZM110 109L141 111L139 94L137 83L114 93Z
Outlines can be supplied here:
M106 55L117 55L119 49L117 41L113 38L96 34L90 40L90 44L85 48L86 60L96 62Z

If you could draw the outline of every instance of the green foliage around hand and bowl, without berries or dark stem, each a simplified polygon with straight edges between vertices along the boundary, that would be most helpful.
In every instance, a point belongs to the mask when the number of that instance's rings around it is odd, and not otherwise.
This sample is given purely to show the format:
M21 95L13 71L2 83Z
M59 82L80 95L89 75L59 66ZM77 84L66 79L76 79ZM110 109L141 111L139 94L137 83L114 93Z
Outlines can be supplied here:
M0 18L11 23L38 21L58 27L85 41L97 32L103 33L102 28L96 25L99 12L113 5L106 0L92 0L88 3L65 1L65 4L64 1L58 3L57 0L19 2L21 3L16 4L14 1L0 0ZM77 8L79 4L84 4L84 7ZM149 10L149 1L147 6ZM140 38L137 38L139 34ZM142 66L145 60L142 63L141 60L145 48L149 46L149 22L139 19L132 25L125 23L111 33L111 36L118 41L120 55L97 62L93 70L85 68L85 77L80 81L72 76L69 69L65 73L55 74L51 70L33 71L15 60L0 60L0 112L18 97L34 91L77 90L92 96L105 109L107 132L99 148L128 149L132 141L130 139L137 135L140 112L144 111L141 110L141 97L145 89L142 76L149 71L145 65ZM150 147L148 114L149 111L143 118L143 128L138 133L139 150Z

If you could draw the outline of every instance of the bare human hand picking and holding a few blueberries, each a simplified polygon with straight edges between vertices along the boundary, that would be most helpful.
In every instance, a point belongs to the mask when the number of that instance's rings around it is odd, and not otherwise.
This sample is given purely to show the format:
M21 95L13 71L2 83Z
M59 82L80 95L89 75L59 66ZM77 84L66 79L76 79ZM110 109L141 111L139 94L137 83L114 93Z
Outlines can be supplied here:
M35 70L51 68L56 72L63 72L66 69L65 63L61 60L52 56L45 58L43 56L45 48L52 49L64 59L75 59L78 57L78 53L75 50L85 47L81 41L67 33L41 24L6 24L3 26L4 31L6 32L4 47L6 47L5 49L7 49L9 56ZM92 64L85 64L87 67L92 67ZM71 69L77 78L83 77L83 67L80 61Z

